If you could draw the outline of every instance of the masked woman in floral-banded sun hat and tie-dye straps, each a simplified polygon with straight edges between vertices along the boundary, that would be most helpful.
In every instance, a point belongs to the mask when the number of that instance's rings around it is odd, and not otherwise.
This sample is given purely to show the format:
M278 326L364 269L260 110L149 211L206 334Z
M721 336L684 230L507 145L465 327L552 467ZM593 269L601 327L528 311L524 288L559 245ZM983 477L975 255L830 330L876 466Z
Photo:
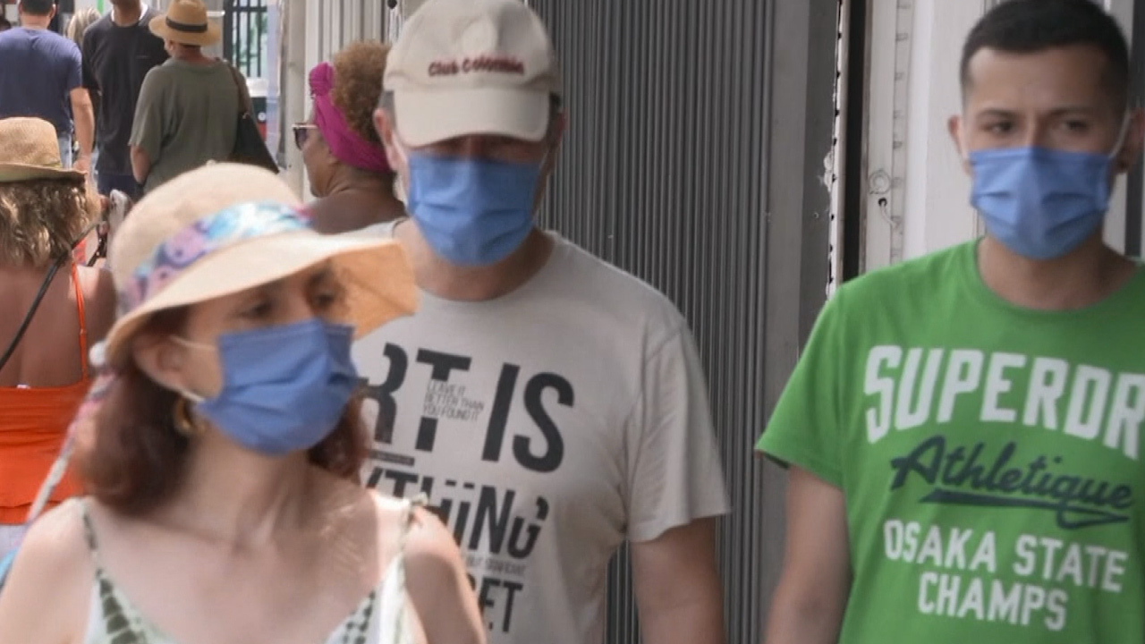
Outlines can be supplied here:
M73 427L89 496L32 525L0 642L484 641L452 535L357 484L350 341L416 308L412 270L299 207L213 164L124 222L108 371Z

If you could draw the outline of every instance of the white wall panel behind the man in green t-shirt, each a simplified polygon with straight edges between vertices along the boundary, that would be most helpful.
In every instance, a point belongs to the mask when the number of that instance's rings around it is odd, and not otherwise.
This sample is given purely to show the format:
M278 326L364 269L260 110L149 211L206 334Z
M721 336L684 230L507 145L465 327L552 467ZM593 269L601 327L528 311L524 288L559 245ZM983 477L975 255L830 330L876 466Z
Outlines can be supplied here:
M981 234L969 203L970 179L948 134L947 120L962 107L958 63L963 41L978 18L1000 1L872 1L864 270ZM1132 0L1104 3L1128 33ZM906 56L905 63L901 56ZM895 72L903 65L909 69L897 84ZM893 100L897 87L905 93L898 105ZM902 150L898 157L897 140ZM901 186L890 182L897 174L903 178ZM1115 248L1123 246L1124 181L1114 195L1106 237Z

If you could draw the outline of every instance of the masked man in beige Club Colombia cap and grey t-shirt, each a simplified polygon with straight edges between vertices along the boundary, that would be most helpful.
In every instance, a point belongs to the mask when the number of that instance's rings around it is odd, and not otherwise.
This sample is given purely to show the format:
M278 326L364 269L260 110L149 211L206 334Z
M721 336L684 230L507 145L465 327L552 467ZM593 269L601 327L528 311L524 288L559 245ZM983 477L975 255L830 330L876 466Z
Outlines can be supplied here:
M371 233L423 297L355 347L366 482L428 495L493 644L602 642L625 541L643 641L721 644L728 503L692 332L535 225L566 123L544 25L520 0L429 0L386 68L376 125L410 217Z

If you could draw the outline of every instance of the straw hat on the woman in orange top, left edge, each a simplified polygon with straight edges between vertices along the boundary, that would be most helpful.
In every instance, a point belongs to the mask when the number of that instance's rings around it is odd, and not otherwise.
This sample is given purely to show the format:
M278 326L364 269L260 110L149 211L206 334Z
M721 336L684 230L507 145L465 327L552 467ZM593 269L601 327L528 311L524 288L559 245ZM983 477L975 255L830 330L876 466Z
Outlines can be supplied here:
M35 179L82 179L60 163L56 128L40 118L0 119L0 183Z

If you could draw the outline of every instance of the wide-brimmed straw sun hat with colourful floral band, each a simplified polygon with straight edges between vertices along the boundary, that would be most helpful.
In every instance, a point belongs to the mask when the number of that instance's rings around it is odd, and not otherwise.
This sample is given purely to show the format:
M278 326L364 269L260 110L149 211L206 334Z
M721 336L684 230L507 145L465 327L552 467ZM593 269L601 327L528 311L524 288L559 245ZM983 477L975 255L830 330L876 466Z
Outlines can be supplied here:
M112 239L119 315L95 361L123 364L128 340L159 311L237 293L327 260L347 290L346 322L357 337L417 309L413 269L397 242L319 235L299 207L273 173L239 164L203 166L148 193Z

